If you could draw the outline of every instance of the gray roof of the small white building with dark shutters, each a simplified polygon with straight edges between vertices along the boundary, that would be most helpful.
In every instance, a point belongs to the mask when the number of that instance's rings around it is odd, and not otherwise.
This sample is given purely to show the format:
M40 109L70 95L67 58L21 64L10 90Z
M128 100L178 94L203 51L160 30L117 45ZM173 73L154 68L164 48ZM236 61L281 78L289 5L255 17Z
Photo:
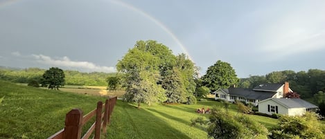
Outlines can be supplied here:
M288 108L318 108L318 106L315 106L315 104L311 104L310 102L301 100L300 98L272 98L272 100L274 100L275 102L279 102L284 106L287 106Z

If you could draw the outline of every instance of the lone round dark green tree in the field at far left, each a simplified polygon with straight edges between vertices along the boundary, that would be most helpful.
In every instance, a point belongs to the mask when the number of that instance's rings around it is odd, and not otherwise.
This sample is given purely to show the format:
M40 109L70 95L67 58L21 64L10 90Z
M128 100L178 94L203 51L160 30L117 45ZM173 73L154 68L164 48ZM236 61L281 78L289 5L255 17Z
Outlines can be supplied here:
M59 89L59 87L64 86L64 72L62 69L57 67L52 67L45 71L42 76L41 84L49 89Z

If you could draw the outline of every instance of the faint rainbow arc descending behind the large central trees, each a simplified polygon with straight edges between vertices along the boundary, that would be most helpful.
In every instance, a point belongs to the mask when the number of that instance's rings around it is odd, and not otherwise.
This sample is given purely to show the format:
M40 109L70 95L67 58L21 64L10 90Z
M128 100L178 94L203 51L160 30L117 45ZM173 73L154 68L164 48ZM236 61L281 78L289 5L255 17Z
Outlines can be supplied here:
M159 20L155 19L154 17L152 17L148 13L143 12L139 8L135 8L134 6L132 6L132 5L128 4L128 3L125 3L123 1L112 0L110 2L118 4L119 6L123 6L125 8L128 8L129 10L137 12L140 15L142 15L143 17L146 17L146 18L150 19L150 21L154 22L157 26L159 26L161 29L163 29L168 35L170 35L170 37L172 37L174 39L174 41L176 41L177 45L182 48L185 55L188 56L188 59L191 59L191 61L194 62L193 58L191 57L191 55L189 55L188 50L186 50L185 46L181 43L181 41L179 41L179 39L176 37L176 35L174 35L174 33L170 29L168 29L164 24L162 24Z

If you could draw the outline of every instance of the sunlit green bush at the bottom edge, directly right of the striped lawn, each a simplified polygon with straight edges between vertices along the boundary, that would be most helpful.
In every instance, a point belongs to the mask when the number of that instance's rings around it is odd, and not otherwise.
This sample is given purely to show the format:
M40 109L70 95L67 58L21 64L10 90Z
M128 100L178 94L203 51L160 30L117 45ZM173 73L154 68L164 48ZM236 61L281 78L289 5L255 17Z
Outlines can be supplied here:
M267 138L267 129L245 115L234 116L212 109L208 136L212 138Z

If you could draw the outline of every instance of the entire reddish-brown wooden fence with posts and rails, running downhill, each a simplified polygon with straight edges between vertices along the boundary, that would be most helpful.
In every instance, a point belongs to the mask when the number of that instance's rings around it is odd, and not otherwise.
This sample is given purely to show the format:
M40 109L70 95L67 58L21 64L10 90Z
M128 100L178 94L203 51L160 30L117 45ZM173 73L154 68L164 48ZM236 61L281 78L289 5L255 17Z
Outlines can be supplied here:
M105 101L105 104L103 104L103 102L98 102L97 108L89 112L87 115L83 115L83 112L80 109L72 109L65 117L64 129L53 134L48 139L80 139L82 126L93 118L94 115L96 115L96 121L91 125L85 135L82 136L82 139L89 138L91 133L94 131L94 138L99 139L100 132L106 132L106 127L110 122L110 117L116 104L116 99L117 97L109 98Z

